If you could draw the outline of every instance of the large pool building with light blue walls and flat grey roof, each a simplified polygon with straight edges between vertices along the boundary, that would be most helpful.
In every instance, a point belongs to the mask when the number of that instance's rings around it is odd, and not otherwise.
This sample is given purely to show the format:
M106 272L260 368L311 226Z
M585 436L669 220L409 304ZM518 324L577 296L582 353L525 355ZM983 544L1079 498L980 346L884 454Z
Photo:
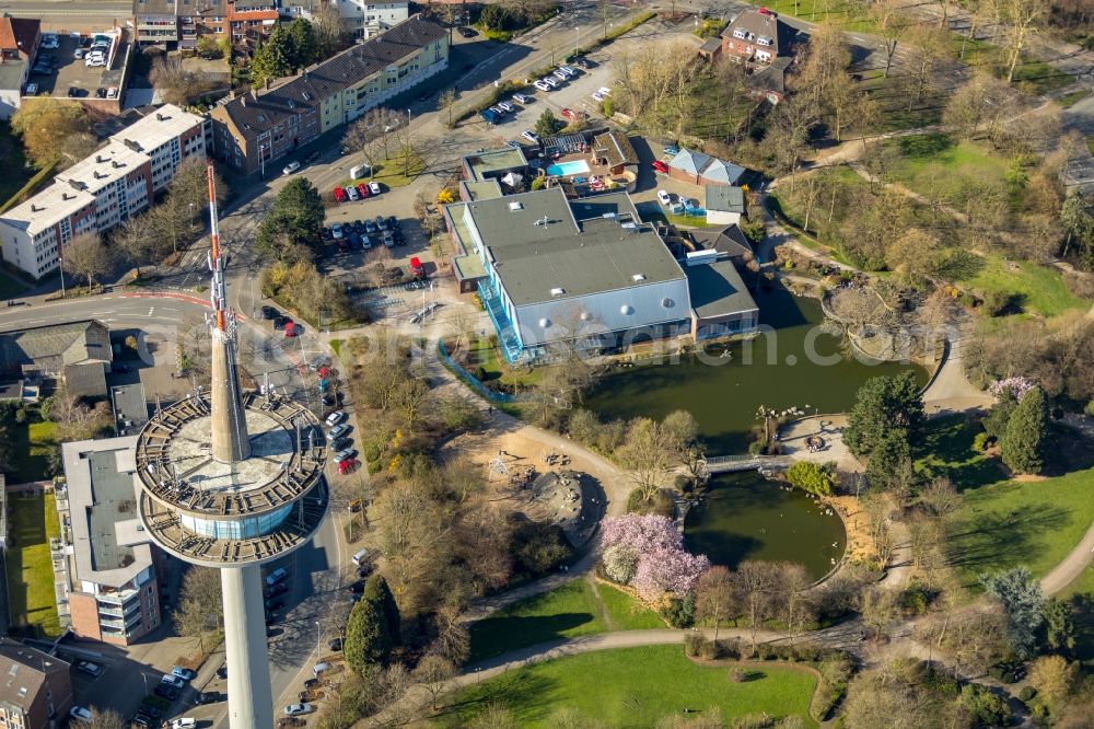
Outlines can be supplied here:
M627 193L481 192L446 205L444 217L463 254L453 261L461 290L477 291L509 361L550 358L561 343L604 350L696 335L689 275ZM719 289L706 284L710 306ZM735 294L752 328L755 304L743 286ZM732 319L725 306L717 311L723 323Z

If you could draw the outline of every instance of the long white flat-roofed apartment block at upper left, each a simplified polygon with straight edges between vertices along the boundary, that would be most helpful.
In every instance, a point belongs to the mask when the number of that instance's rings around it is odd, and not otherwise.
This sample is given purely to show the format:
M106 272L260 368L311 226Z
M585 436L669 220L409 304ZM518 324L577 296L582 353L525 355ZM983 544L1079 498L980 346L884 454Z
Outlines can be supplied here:
M0 215L4 261L35 278L55 270L65 245L140 212L188 157L205 157L208 120L161 107L110 137L30 200Z

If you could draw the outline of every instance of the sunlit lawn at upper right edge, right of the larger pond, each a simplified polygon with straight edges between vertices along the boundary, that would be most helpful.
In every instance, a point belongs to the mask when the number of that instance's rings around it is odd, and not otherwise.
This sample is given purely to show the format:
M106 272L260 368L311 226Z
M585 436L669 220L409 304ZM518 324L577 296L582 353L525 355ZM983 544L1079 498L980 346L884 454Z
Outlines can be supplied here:
M982 258L976 276L963 284L979 293L999 291L1012 297L1012 308L1043 316L1056 316L1073 309L1087 309L1090 302L1071 293L1060 273L1028 261L1004 262L999 256Z

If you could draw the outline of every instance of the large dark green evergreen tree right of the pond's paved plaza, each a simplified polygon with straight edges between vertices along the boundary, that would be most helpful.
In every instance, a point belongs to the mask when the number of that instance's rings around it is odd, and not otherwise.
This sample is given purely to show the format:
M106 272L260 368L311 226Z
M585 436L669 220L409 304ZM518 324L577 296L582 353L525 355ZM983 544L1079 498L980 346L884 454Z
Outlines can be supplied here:
M909 440L923 421L923 401L911 372L893 378L871 378L859 387L858 400L848 416L843 442L857 456L869 455L894 429Z

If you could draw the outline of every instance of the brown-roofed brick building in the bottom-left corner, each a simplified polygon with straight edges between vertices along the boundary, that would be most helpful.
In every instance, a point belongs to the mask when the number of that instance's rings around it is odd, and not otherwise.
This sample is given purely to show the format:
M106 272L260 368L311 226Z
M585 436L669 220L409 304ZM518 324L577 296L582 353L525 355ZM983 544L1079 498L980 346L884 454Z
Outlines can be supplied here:
M0 727L53 729L72 707L69 664L56 656L0 638Z

